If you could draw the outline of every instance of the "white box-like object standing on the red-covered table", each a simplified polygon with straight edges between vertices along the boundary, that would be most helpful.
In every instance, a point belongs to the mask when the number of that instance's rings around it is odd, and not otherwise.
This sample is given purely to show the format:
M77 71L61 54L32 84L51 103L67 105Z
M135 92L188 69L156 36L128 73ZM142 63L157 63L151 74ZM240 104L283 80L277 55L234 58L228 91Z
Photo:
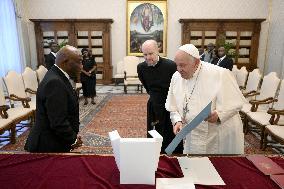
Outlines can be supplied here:
M153 138L121 138L117 130L109 132L120 184L155 184L163 137L156 130L149 134Z

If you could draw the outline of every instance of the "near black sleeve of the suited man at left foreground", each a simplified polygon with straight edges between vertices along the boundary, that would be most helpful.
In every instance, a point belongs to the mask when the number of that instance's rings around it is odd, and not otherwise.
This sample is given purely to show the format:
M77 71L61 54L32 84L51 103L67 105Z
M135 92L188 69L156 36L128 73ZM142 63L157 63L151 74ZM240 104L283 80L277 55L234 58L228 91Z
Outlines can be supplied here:
M68 119L68 90L64 82L52 80L47 84L46 112L50 121L50 127L55 135L67 144L73 144L77 138Z

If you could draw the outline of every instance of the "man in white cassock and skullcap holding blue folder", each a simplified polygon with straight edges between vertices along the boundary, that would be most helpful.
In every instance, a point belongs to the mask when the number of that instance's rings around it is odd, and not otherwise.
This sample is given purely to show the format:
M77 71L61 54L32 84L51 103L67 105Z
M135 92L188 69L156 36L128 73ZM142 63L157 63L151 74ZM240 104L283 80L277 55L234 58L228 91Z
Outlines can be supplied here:
M184 153L243 154L243 125L238 112L246 100L232 73L200 61L192 44L179 48L175 63L178 71L171 79L165 104L174 133L212 101L211 115L186 136Z

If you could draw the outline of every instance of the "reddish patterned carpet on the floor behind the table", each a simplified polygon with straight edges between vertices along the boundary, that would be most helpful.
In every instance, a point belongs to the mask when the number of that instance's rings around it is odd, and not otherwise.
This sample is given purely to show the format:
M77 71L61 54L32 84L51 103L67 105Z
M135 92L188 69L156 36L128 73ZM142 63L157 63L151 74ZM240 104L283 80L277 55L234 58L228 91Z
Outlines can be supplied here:
M74 152L110 154L112 149L108 132L117 130L121 137L146 137L145 94L99 94L96 105L83 105L80 100L80 133L84 145ZM28 132L17 137L16 144L7 144L0 151L24 151ZM259 149L259 139L253 134L245 136L246 154L274 154L271 148Z

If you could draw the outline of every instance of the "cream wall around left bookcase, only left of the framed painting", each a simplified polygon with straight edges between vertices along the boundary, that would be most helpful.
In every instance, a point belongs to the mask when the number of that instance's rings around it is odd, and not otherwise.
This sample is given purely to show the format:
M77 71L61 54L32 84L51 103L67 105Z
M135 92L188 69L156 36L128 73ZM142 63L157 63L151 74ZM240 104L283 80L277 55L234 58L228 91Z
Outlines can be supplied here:
M112 64L126 55L126 1L121 0L27 0L26 16L29 19L96 19L111 18ZM32 34L31 34L32 35ZM34 43L34 37L30 37ZM35 45L34 45L35 47ZM36 51L34 50L33 53ZM33 63L36 55L33 54Z

